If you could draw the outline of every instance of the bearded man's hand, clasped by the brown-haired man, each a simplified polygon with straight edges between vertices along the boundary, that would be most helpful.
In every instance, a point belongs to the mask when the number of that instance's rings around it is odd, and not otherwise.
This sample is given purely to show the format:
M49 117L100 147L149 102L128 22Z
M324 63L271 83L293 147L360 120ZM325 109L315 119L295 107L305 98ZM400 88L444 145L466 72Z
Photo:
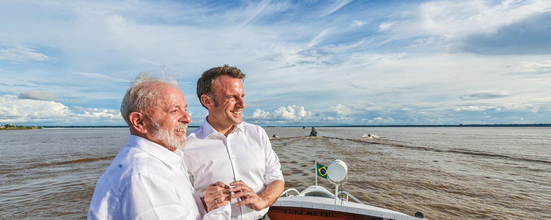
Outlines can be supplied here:
M230 203L231 192L229 191L229 189L230 186L220 181L207 186L207 189L203 192L205 197L201 198L201 200L203 200L203 205L207 209L207 212L228 205Z

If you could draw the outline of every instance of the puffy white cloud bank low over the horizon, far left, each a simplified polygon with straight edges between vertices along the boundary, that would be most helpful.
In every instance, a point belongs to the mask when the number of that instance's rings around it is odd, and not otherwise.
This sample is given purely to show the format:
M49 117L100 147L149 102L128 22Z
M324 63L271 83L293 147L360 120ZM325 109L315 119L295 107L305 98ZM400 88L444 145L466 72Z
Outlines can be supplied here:
M73 111L83 111L75 113ZM0 96L0 123L34 122L57 124L95 123L122 124L123 119L118 110L102 108L68 108L55 101L18 99L15 95Z

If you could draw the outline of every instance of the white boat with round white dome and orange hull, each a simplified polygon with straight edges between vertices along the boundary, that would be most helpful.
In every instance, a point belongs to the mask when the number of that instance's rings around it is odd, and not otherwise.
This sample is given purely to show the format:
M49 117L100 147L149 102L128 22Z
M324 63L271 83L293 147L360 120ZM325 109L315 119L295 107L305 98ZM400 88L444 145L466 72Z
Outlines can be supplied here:
M316 162L316 168L319 167ZM325 166L322 166L325 168ZM334 169L332 169L334 168ZM340 170L339 170L340 168ZM322 168L323 169L323 168ZM323 170L322 170L323 171ZM348 168L342 160L333 160L329 168L327 180L335 181L335 194L332 194L323 186L307 187L299 192L291 188L285 190L268 210L268 216L272 220L423 220L422 212L416 212L409 216L401 212L366 205L347 191L338 191L338 185L348 179ZM322 174L323 175L323 174ZM335 178L337 176L337 178ZM346 183L346 181L344 182ZM341 195L341 197L338 197ZM345 197L344 197L345 196ZM352 200L352 201L349 201Z

